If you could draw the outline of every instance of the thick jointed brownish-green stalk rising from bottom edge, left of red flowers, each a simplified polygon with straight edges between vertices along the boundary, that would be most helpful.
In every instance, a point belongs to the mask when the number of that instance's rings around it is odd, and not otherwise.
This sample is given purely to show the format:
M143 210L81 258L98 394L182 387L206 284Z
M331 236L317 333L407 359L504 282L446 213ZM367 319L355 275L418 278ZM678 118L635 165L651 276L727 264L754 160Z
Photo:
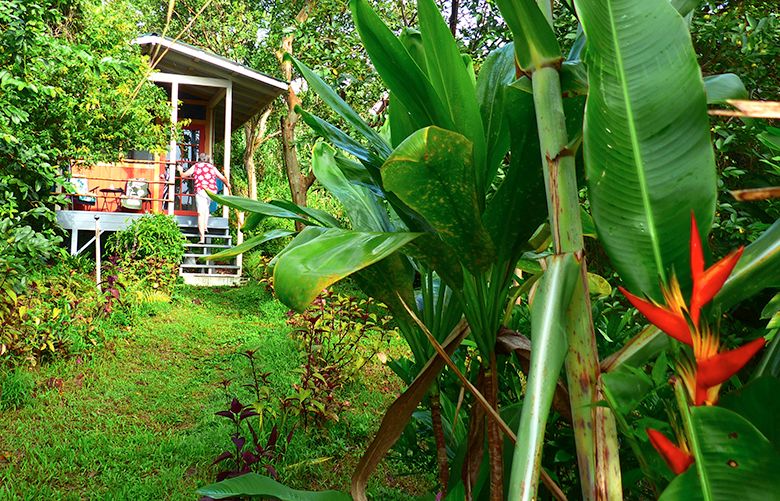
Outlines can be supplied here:
M543 7L542 11L547 9ZM549 11L547 14L552 23ZM582 255L579 193L574 156L566 147L568 135L558 70L537 68L532 84L553 246L558 254ZM600 369L586 271L583 259L582 285L575 290L567 311L566 356L582 496L586 500L622 499L614 416L608 409L596 412Z

